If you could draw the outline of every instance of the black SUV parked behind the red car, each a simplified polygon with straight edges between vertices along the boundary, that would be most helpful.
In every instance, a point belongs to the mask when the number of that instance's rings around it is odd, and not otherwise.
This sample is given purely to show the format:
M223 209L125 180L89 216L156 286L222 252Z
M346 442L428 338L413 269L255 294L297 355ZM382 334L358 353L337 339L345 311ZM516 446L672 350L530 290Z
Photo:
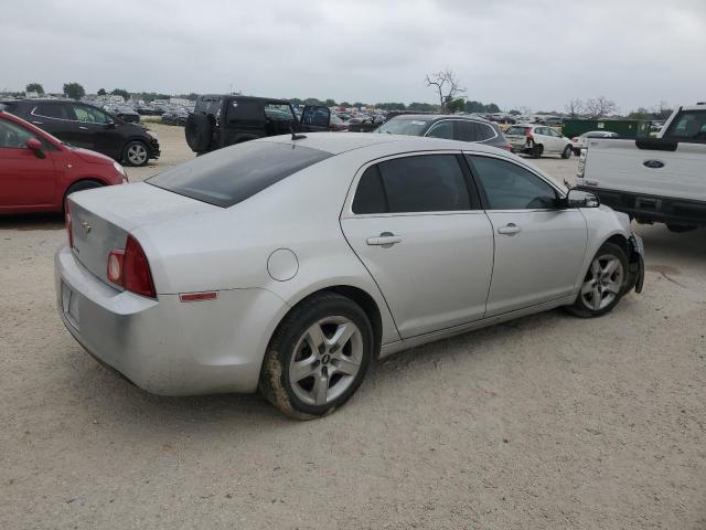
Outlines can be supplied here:
M159 141L145 127L128 124L93 105L65 99L0 102L14 114L72 146L90 149L130 166L159 158Z

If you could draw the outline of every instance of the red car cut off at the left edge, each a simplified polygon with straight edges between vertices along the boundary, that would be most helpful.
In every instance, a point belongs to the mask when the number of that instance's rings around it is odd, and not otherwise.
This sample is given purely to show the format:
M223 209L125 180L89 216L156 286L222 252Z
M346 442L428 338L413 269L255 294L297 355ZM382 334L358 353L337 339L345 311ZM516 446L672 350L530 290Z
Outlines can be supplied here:
M122 166L0 109L0 213L61 212L69 193L127 182Z

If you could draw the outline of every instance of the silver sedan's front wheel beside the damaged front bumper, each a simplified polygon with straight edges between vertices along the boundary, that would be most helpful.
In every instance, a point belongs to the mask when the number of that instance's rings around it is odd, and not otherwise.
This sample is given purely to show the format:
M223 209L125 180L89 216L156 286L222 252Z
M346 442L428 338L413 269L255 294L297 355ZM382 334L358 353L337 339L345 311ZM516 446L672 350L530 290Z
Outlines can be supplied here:
M628 285L628 256L613 243L603 243L586 272L576 301L568 308L581 318L600 317L609 312Z

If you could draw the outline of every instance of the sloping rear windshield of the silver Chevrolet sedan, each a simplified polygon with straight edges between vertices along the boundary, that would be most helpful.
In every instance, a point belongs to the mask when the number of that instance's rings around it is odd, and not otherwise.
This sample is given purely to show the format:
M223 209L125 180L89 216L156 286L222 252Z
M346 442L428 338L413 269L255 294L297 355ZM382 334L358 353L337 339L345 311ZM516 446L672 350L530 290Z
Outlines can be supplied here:
M247 141L197 157L146 182L228 208L331 156L297 145Z

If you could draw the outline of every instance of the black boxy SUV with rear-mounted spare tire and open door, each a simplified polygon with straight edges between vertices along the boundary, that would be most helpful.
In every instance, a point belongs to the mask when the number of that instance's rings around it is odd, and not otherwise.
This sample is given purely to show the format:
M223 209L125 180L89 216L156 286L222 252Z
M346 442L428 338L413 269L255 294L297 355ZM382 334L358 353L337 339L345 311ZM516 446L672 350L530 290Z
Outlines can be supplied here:
M186 119L186 144L196 153L267 136L330 130L328 107L306 106L301 118L286 99L205 95Z

